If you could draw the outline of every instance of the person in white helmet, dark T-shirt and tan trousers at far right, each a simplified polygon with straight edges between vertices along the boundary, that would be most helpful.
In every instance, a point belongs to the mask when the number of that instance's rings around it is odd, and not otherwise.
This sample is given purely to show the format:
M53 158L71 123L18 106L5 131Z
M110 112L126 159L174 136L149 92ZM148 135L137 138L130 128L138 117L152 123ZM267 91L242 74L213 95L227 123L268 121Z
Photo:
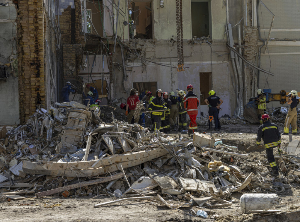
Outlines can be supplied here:
M289 112L286 115L283 135L289 134L289 125L292 125L292 134L297 134L297 105L299 104L298 92L292 90L288 95L287 104L291 105L289 107Z

